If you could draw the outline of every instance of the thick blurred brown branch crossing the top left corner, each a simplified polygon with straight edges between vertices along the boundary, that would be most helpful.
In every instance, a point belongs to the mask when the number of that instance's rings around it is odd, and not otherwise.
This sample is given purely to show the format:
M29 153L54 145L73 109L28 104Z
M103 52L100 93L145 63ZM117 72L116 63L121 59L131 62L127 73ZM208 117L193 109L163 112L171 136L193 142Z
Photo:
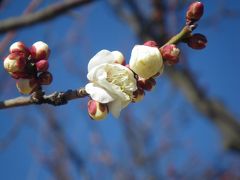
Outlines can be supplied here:
M53 4L39 12L20 17L13 17L0 21L0 33L27 27L36 23L45 22L66 13L67 11L85 5L93 0L70 0Z

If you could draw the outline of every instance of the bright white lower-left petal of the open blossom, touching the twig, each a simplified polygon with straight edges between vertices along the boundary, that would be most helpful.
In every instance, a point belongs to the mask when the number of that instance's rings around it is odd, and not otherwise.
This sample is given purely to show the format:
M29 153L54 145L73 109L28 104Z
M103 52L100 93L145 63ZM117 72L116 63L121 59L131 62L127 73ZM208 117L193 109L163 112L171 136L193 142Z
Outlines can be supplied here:
M94 83L88 83L85 86L85 89L93 100L100 103L109 103L114 100L114 98L105 89Z

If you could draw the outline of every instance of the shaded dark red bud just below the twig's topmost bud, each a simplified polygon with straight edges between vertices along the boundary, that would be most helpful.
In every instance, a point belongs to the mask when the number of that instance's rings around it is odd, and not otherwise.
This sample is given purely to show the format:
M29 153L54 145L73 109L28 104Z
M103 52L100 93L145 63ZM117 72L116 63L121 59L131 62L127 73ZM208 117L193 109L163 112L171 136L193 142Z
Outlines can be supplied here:
M203 49L207 45L207 38L203 34L193 34L188 39L187 44L193 49Z

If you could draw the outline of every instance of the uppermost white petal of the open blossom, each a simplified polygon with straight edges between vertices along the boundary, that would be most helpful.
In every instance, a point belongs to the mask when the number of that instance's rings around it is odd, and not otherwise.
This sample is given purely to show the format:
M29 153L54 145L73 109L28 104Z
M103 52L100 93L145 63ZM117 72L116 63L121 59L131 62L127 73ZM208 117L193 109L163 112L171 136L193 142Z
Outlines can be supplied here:
M95 56L92 57L92 59L90 59L88 63L88 72L90 72L92 68L103 63L114 63L113 54L106 49L99 51Z

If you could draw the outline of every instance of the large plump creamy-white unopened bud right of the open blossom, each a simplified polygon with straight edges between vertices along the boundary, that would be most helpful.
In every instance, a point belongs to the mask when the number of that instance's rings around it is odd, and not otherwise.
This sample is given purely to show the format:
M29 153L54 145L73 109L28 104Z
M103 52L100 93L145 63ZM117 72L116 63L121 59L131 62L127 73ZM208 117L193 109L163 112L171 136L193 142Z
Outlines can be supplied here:
M163 60L157 47L136 45L132 50L129 65L136 74L148 79L161 71Z

